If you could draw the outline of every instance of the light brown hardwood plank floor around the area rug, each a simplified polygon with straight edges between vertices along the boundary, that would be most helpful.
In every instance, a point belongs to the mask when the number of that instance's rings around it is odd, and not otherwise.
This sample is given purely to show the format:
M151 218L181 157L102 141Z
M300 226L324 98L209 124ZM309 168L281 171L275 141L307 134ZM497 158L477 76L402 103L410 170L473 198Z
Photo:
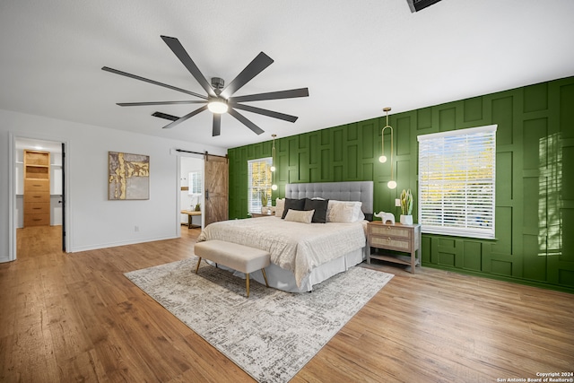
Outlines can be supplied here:
M18 231L0 265L0 381L253 381L123 273L193 255L181 239L64 254ZM396 276L293 382L496 382L574 370L574 295L422 267Z

